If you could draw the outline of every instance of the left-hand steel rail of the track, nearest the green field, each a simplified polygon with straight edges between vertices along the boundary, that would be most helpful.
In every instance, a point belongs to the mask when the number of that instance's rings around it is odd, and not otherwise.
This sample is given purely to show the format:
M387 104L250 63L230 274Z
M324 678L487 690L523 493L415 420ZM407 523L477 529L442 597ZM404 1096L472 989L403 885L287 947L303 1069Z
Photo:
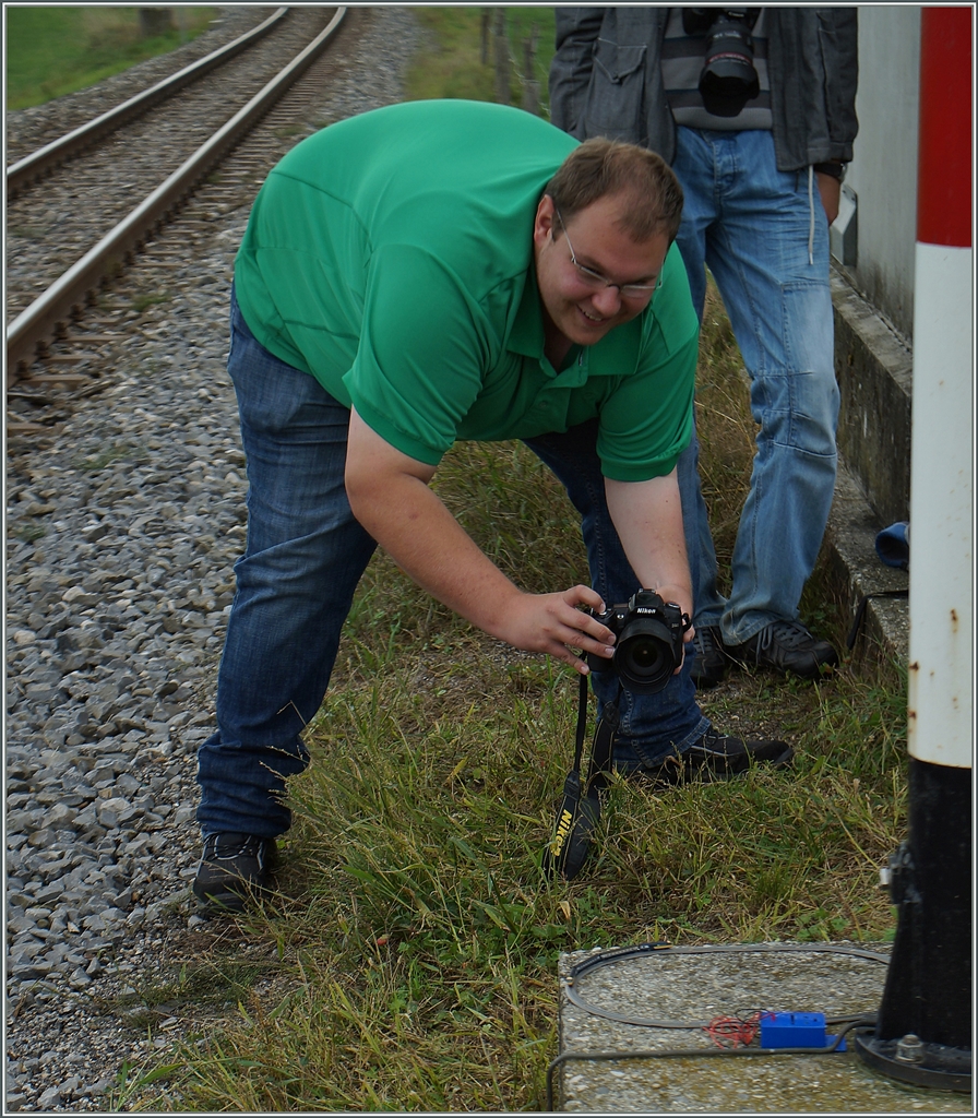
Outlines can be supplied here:
M229 61L246 47L249 47L256 39L267 35L287 15L288 8L279 8L264 23L253 27L250 31L246 31L245 35L239 36L232 42L225 44L225 46L212 50L203 58L199 58L196 63L184 66L182 70L178 70L175 74L171 74L170 77L163 78L162 82L158 82L156 85L151 86L149 89L143 89L142 93L130 97L129 101L122 102L114 108L110 108L107 112L93 117L77 129L66 132L63 136L58 136L57 140L45 144L44 148L38 148L37 151L25 155L23 159L16 162L7 171L7 197L15 197L23 187L53 170L58 163L64 162L95 140L99 140L116 129L122 127L127 121L149 112L154 105L171 97L184 86L190 85L191 82Z

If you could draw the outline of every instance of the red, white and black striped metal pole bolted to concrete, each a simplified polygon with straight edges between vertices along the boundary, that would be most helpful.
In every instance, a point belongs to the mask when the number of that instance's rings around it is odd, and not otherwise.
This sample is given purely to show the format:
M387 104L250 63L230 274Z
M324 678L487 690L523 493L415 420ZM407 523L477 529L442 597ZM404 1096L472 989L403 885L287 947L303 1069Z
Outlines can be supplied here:
M863 1059L971 1089L972 9L921 10L910 482L909 839L896 940Z

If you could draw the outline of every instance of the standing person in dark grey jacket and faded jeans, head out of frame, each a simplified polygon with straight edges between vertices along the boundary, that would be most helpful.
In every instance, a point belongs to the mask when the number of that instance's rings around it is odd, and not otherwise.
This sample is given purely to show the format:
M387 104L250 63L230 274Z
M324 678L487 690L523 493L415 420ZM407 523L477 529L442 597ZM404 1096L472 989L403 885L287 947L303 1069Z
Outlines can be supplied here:
M694 679L731 660L806 679L838 663L798 619L835 487L828 226L856 134L855 8L558 8L551 116L657 151L685 195L676 243L702 320L713 274L750 376L757 453L725 599L696 471L678 463Z

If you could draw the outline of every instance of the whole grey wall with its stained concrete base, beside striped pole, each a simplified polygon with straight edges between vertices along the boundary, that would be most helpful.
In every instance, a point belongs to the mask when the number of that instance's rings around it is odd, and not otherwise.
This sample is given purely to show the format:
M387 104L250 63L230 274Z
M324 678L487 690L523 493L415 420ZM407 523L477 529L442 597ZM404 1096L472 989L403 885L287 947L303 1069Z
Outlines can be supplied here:
M832 281L841 462L826 543L843 608L874 596L860 647L905 662L908 600L893 595L906 575L879 561L874 540L910 515L920 8L858 12L860 132L844 184L857 200L855 260L836 259ZM845 253L838 222L833 231Z

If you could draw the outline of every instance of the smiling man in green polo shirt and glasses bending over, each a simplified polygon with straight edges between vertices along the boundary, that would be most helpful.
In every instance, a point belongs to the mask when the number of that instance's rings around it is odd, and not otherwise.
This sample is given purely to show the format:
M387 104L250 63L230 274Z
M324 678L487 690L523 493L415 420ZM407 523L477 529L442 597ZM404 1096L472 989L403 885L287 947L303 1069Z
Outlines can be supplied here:
M469 102L350 119L269 174L231 301L248 540L199 756L203 903L240 908L267 880L284 781L308 762L302 730L377 543L485 632L583 673L572 650L610 657L615 638L580 607L645 587L691 613L675 464L697 321L671 247L681 210L652 152ZM592 587L521 590L429 489L456 439L513 438L581 513ZM615 673L594 685L618 698ZM686 667L620 710L626 771L791 755L714 732Z

